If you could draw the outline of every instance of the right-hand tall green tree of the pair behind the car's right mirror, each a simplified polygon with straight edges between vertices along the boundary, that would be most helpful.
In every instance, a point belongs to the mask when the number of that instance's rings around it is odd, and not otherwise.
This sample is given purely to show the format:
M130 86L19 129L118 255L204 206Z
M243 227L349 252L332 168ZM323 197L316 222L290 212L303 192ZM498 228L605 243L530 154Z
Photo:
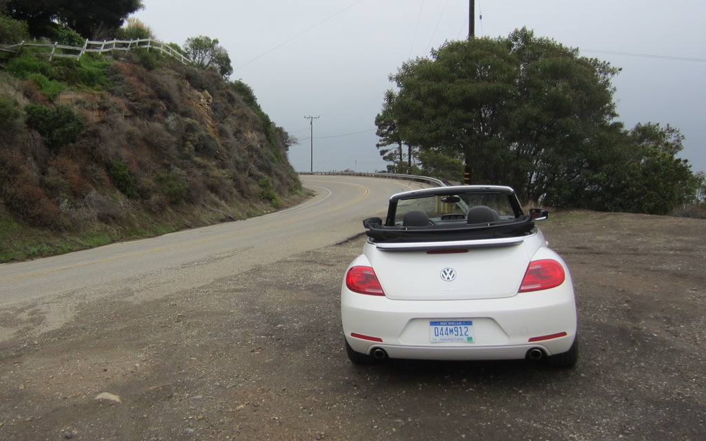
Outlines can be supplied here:
M507 172L527 200L575 204L609 157L604 141L622 128L611 86L618 69L524 28L506 41L518 85L505 134L513 141Z

